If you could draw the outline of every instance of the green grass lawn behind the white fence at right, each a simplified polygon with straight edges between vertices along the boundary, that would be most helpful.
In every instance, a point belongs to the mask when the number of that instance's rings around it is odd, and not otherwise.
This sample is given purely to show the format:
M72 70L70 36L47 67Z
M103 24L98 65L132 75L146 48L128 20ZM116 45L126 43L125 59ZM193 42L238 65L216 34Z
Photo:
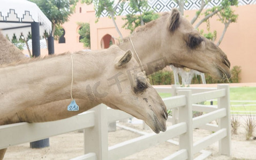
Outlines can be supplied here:
M170 93L159 93L162 98L170 97ZM230 87L230 100L239 101L256 101L256 87ZM253 106L234 106L234 105L252 105ZM205 105L210 105L210 102L205 102ZM217 105L214 101L213 105ZM256 111L256 102L231 102L231 110L239 111ZM236 114L236 113L235 113Z

